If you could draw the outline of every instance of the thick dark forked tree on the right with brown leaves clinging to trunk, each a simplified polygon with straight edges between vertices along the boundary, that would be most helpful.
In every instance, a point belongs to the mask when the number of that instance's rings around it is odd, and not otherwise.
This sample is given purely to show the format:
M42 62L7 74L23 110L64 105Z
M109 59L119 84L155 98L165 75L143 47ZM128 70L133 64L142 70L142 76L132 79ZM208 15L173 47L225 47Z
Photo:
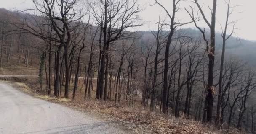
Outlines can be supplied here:
M190 17L192 18L192 21L195 24L195 27L202 33L203 39L206 43L206 49L205 51L208 52L208 82L207 82L207 95L205 97L205 112L203 121L211 122L212 116L213 116L213 94L214 94L214 86L213 86L213 80L214 80L214 57L215 57L215 24L216 24L216 7L217 7L217 0L213 0L213 8L211 9L211 23L207 20L205 17L205 12L202 10L200 4L197 0L194 0L195 4L197 5L197 8L200 11L200 14L203 17L203 20L207 24L207 26L210 28L210 42L207 37L205 36L205 29L200 28L197 26L198 18L195 18L194 15L194 9L191 8L191 13L186 9L187 13L189 13Z

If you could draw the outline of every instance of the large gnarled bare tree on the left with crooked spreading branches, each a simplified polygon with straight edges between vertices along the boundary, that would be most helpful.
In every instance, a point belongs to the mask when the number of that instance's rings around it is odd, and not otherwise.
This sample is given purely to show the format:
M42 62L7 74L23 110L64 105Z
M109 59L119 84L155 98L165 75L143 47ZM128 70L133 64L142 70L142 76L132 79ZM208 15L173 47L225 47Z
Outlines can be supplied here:
M72 32L80 24L80 18L85 14L83 10L78 7L78 0L33 0L35 9L29 9L27 11L37 11L43 18L32 17L27 14L25 21L19 25L16 25L20 31L26 31L41 39L54 41L59 43L57 53L57 73L55 80L59 82L59 51L61 47L64 47L64 61L65 61L65 97L69 97L69 80L70 80L70 67L69 67L69 46L72 41ZM43 20L44 19L44 20ZM45 36L44 26L53 28L56 36ZM57 91L59 87L55 84L54 90ZM55 93L56 95L56 93Z

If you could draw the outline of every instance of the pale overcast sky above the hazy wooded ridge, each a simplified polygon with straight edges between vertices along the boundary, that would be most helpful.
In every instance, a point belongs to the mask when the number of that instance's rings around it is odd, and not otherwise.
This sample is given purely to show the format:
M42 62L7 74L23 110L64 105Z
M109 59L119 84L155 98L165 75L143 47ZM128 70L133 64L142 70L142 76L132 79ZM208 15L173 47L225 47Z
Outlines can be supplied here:
M136 30L144 30L147 31L149 29L155 30L155 23L158 21L158 16L160 15L162 19L166 17L165 11L162 10L158 5L154 5L154 0L138 0L141 6L144 8L144 11L140 13L141 19L144 22L144 25ZM170 11L171 8L171 0L159 0L166 8ZM212 7L212 0L198 0L200 5L203 6L203 9L207 11L206 16L210 21L210 10L209 7ZM234 9L235 12L241 12L237 14L233 14L230 16L230 21L237 20L235 35L240 38L256 40L256 0L231 0L232 5L240 5ZM227 7L224 4L224 0L217 0L217 15L216 15L216 31L221 31L220 24L224 25L225 16L227 12ZM184 8L188 8L191 5L195 7L195 5L191 2L191 0L187 0L186 2L181 3L180 12L176 15L177 19L181 22L189 21L189 17L187 13L184 11ZM24 10L26 8L33 7L32 0L3 0L0 4L0 8L6 8L8 10ZM168 22L169 20L166 19ZM204 21L200 21L198 23L200 27L206 27ZM185 27L194 27L193 24L189 24ZM229 28L229 32L232 28Z

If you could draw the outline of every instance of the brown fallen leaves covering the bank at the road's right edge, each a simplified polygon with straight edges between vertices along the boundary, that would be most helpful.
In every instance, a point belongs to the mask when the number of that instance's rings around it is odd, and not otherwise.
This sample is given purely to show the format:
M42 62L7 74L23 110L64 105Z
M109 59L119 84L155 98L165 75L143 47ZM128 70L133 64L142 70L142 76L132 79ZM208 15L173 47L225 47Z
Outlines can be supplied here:
M125 107L118 103L85 101L73 102L70 105L83 107L93 113L108 115L136 134L219 134L198 121L171 119L162 114L150 113L137 107Z

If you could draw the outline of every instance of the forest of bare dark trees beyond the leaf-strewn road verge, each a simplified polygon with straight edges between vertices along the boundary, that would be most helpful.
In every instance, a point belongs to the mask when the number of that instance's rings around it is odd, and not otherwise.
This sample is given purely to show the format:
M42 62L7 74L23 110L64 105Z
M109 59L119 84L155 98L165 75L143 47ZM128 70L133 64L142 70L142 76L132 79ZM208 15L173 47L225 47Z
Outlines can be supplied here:
M131 30L144 25L138 0L33 0L32 9L2 8L0 67L37 67L39 90L49 96L82 95L255 134L256 43L234 36L235 3L223 0L226 21L217 30L217 0L210 18L203 0L191 0L195 6L183 9L187 22L178 15L186 1L169 1L171 9L155 0L166 18L148 31ZM188 24L194 28L183 28Z

